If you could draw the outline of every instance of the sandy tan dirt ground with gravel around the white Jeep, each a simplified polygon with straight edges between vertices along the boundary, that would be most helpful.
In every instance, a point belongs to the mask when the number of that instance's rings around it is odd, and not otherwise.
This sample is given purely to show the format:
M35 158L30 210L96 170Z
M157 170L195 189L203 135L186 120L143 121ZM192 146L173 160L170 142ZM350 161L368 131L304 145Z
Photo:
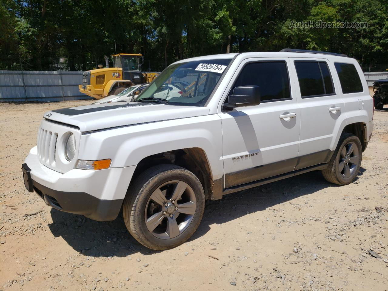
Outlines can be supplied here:
M151 251L121 217L63 213L24 188L43 113L84 104L0 104L0 290L388 290L388 110L352 184L315 171L230 194L188 242Z

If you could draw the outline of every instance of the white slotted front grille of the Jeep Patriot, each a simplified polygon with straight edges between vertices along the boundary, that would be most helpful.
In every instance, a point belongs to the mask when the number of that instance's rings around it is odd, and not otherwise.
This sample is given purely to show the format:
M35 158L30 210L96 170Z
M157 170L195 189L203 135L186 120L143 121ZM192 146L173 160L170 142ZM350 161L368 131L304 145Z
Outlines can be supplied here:
M58 133L39 127L37 149L39 160L42 163L55 166L57 139Z

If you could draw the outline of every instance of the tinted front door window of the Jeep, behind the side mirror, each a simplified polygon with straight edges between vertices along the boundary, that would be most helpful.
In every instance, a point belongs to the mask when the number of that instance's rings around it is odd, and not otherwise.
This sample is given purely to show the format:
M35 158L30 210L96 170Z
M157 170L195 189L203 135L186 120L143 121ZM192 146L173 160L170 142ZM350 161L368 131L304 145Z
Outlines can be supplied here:
M286 62L251 62L246 64L239 74L233 89L239 86L259 86L260 99L279 100L290 98L290 85Z

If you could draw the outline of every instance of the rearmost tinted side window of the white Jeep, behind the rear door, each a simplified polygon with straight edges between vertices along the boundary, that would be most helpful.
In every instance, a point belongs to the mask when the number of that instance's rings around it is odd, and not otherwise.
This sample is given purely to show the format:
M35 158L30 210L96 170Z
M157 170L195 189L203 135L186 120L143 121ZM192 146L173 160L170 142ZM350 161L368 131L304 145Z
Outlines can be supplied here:
M343 94L364 91L359 73L357 73L357 69L353 64L335 62L334 66L340 79Z

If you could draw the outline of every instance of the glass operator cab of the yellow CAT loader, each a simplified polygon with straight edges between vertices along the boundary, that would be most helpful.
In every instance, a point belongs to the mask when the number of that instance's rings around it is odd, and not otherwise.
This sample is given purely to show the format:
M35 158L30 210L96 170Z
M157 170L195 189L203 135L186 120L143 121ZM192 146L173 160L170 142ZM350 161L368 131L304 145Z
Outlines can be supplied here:
M142 83L141 66L143 56L140 54L117 54L113 56L114 68L123 69L123 80L131 80L134 84Z

